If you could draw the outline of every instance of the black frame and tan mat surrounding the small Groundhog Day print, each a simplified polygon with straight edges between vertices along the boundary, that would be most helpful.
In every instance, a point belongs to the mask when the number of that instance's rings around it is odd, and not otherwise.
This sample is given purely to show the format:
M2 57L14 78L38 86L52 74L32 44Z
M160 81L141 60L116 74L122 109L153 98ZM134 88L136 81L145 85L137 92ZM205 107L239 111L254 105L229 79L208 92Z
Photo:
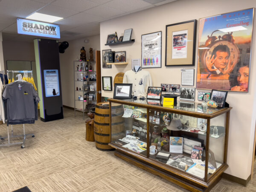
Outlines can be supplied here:
M173 58L173 32L181 32L187 30L186 41L186 58ZM183 35L183 34L180 34ZM177 35L176 35L177 36ZM165 66L195 66L195 38L196 38L196 20L189 20L180 23L166 25L166 50L165 50ZM176 46L176 45L175 45ZM171 53L170 53L171 52ZM170 56L171 55L171 56ZM178 57L178 54L176 55Z

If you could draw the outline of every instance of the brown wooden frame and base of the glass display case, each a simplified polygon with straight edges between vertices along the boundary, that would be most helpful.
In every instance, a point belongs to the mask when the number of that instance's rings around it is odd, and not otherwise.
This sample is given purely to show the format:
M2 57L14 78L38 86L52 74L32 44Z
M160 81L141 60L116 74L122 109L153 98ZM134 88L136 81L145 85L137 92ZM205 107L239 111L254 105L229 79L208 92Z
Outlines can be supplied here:
M185 116L193 116L197 118L207 119L207 131L206 131L206 145L205 145L205 152L206 152L206 159L205 159L205 177L203 180L190 175L188 173L179 171L178 169L165 165L164 163L158 162L149 158L149 145L147 145L147 156L143 156L137 154L127 148L123 148L120 145L116 145L115 143L109 143L109 145L116 149L115 155L137 167L140 167L148 172L151 172L154 175L158 175L172 183L177 184L178 186L183 187L189 191L210 191L213 186L221 179L222 173L228 168L227 165L227 144L228 144L228 134L229 134L229 120L230 120L230 108L223 108L219 111L211 114L194 112L194 111L184 111L175 108L165 108L162 106L154 106L154 105L147 105L147 104L140 104L135 103L127 100L119 100L119 99L108 99L109 107L111 108L111 103L119 103L122 105L131 105L140 108L147 109L147 143L149 143L149 110L158 110L164 111L169 113L177 113L180 115ZM110 110L110 117L111 117ZM212 174L208 175L208 152L209 152L209 137L210 137L210 119L220 116L221 114L226 113L225 118L225 141L224 141L224 157L222 165ZM111 125L111 118L110 118L110 125ZM111 126L110 126L110 133L111 133ZM110 134L111 136L111 134Z

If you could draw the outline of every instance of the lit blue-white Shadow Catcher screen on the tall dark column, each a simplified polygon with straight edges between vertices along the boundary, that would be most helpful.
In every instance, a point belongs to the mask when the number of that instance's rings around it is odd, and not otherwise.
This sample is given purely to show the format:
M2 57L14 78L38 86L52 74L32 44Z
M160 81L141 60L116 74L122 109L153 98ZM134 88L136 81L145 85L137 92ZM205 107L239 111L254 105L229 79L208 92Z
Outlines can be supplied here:
M45 96L60 96L58 70L44 70Z

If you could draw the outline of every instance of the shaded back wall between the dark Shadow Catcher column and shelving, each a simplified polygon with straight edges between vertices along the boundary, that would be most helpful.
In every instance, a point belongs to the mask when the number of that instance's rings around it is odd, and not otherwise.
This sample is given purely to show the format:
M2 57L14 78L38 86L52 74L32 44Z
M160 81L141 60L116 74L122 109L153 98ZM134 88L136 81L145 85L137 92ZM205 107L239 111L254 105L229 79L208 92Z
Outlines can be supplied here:
M89 43L84 43L85 39L88 39ZM87 59L90 58L89 48L93 48L95 60L95 51L100 50L99 35L68 41L68 43L69 47L64 53L60 53L62 102L63 105L74 107L74 61L80 59L80 49L82 47L86 50ZM92 64L96 69L95 62L92 62Z

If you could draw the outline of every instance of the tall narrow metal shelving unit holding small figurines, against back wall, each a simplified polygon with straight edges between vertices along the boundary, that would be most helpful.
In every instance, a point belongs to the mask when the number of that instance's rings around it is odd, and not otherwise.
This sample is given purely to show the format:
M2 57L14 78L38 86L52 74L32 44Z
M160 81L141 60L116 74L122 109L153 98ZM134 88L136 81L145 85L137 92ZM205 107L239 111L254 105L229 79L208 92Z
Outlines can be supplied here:
M92 63L92 66L93 66L93 62L94 61L90 61L90 63ZM74 112L75 112L75 116L76 116L76 111L83 112L83 119L84 119L84 113L94 112L94 111L88 110L87 105L93 104L96 102L96 91L95 91L96 85L94 85L96 83L96 80L95 81L89 80L90 75L92 74L96 75L96 71L85 70L86 65L90 67L89 61L74 61ZM93 69L96 69L96 66L93 66ZM90 91L90 85L94 86L93 91ZM81 90L76 90L76 87ZM90 93L95 93L93 100L89 100ZM83 100L78 99L79 95L83 97Z

